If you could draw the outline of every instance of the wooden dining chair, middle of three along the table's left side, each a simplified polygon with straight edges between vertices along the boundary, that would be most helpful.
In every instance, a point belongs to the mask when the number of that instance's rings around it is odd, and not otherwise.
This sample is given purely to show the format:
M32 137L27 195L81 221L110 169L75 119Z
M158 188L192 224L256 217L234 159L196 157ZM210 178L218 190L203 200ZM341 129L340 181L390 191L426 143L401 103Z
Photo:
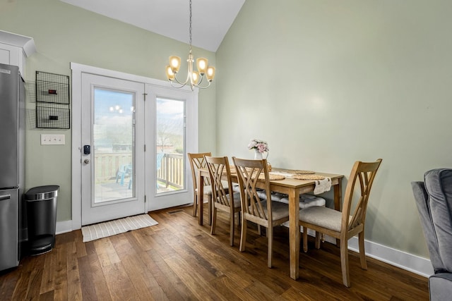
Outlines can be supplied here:
M235 214L240 212L240 192L228 190L232 187L231 168L227 156L205 156L213 190L212 225L210 234L215 234L217 210L225 211L230 216L230 245L234 245ZM224 177L226 176L226 180ZM230 191L232 193L230 193Z

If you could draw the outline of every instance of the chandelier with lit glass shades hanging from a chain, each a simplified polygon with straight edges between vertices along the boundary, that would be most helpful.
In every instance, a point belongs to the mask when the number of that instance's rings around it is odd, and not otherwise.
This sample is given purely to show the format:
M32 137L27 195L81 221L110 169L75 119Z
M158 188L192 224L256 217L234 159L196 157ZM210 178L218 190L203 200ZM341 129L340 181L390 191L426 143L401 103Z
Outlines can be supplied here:
M182 88L185 85L190 85L191 90L193 91L195 87L206 89L210 87L210 83L215 77L215 67L208 66L207 59L199 58L196 59L196 66L198 67L198 71L193 70L194 56L191 54L191 0L190 0L190 51L189 57L186 60L188 63L188 72L186 75L186 80L184 82L179 81L176 76L179 72L179 68L181 66L181 58L179 56L169 56L169 65L166 67L167 78L171 85L176 88ZM206 80L208 84L202 85L204 75L206 75ZM174 84L177 82L177 84Z

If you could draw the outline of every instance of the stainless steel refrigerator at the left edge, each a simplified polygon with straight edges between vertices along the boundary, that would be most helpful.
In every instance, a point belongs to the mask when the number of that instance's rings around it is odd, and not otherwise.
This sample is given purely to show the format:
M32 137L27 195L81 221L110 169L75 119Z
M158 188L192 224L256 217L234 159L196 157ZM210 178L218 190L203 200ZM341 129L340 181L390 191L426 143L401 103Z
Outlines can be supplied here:
M18 266L24 184L25 87L18 67L0 64L0 271Z

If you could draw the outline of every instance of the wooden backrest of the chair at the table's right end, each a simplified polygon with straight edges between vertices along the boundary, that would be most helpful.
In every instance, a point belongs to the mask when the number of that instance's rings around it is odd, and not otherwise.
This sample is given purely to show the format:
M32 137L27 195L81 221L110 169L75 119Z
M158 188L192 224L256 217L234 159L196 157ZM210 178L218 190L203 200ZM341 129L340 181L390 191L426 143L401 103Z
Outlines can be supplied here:
M378 171L381 161L381 159L375 162L356 161L353 165L352 172L348 178L347 188L345 189L341 232L353 231L358 226L364 225L366 221L367 202L369 202L372 184L374 183L376 171ZM359 189L357 189L359 195L357 195L356 199L354 193L357 183L359 185ZM355 205L355 210L350 216L352 204Z

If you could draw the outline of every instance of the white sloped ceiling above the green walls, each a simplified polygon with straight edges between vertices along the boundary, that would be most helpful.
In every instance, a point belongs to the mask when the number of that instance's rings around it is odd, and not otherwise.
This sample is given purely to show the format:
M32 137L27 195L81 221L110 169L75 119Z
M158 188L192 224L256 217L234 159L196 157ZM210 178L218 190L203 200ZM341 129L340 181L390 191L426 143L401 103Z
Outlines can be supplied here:
M189 43L189 0L61 0ZM217 51L245 0L193 0L192 43Z

